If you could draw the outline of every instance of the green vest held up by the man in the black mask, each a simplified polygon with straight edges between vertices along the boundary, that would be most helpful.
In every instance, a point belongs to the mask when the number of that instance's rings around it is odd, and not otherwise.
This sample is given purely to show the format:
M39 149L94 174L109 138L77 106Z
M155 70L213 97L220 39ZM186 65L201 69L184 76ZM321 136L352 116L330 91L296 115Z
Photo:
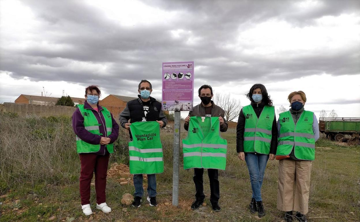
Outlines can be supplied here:
M190 117L183 139L184 169L223 169L228 143L220 136L219 117Z

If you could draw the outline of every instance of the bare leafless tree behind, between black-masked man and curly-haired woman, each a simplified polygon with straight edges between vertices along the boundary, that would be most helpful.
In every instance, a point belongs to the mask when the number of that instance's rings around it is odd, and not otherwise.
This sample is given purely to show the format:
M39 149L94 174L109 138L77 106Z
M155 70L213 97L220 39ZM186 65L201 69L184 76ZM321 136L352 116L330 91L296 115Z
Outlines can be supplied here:
M226 121L231 121L239 116L241 110L241 102L240 100L236 100L234 98L230 98L230 93L228 94L215 94L215 102L216 105L224 109L224 117Z

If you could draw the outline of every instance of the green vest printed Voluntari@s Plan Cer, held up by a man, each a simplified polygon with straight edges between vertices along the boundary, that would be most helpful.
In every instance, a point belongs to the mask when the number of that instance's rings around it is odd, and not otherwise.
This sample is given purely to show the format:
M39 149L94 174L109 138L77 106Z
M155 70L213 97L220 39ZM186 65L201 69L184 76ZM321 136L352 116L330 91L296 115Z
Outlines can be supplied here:
M131 123L129 142L130 173L154 174L164 172L160 126L156 121Z

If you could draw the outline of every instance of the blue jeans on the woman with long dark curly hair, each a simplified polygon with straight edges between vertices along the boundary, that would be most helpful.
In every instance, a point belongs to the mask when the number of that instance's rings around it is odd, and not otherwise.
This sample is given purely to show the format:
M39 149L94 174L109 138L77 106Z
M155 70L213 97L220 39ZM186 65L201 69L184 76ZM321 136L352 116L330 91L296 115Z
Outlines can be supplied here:
M245 153L245 161L249 170L252 198L256 201L261 199L261 186L269 155Z

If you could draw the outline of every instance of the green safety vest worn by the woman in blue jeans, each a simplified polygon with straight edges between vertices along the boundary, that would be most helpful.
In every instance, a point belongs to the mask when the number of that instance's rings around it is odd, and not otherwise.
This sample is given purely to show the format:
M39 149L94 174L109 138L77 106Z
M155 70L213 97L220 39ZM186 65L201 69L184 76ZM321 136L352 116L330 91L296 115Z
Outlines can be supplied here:
M243 113L245 116L244 152L269 155L275 108L264 106L259 118L251 105L243 107Z

